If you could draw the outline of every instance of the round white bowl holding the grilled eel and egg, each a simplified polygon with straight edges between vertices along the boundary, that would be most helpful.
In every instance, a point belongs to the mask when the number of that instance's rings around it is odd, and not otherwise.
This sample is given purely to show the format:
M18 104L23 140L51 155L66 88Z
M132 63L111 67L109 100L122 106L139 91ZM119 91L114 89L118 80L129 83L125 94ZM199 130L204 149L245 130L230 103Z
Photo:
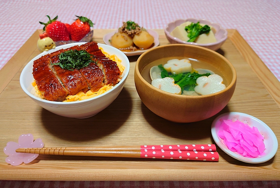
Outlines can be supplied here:
M125 67L125 70L122 73L122 80L116 84L111 90L106 91L105 93L98 95L93 98L80 100L80 101L74 101L74 102L56 102L56 101L48 101L41 99L32 93L34 91L34 87L32 86L32 82L34 81L33 77L33 62L34 60L48 54L52 53L54 51L60 50L60 49L66 49L70 48L72 46L76 45L82 45L85 44L85 42L79 42L79 43L71 43L71 44L64 44L61 46L57 46L55 49L45 51L34 57L22 70L20 74L20 86L24 90L24 92L32 99L34 100L38 105L43 107L44 109L53 112L54 114L58 114L60 116L65 117L75 117L75 118L87 118L94 116L98 112L104 110L106 107L108 107L115 99L118 97L120 92L122 91L122 88L126 82L127 76L129 74L129 60L124 55L124 53L112 46L108 46L106 44L99 44L98 46L103 48L105 52L109 54L114 54L118 58L122 60L122 65Z

